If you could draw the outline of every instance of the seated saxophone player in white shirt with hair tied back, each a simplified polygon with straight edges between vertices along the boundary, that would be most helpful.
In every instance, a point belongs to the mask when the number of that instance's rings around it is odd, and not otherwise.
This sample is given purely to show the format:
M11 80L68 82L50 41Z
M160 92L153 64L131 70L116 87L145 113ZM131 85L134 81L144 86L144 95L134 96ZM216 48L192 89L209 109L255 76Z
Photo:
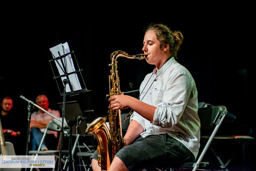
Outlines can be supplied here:
M183 41L180 31L163 24L151 24L145 31L146 61L155 69L140 86L140 100L124 95L109 98L112 110L130 108L134 112L110 171L171 167L194 162L200 142L200 120L195 81L175 59ZM93 170L101 170L91 157Z

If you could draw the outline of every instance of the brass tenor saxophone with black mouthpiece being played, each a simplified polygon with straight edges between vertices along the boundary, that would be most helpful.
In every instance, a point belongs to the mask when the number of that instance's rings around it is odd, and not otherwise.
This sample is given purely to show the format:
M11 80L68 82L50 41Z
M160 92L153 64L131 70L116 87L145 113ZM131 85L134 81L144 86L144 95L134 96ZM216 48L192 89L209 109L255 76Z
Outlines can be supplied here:
M111 54L111 75L109 76L109 96L120 95L119 77L117 71L117 58L125 57L129 59L144 59L147 55L128 55L123 51L115 51ZM107 117L102 116L95 119L86 129L88 134L93 133L97 139L97 160L102 171L109 170L110 164L115 154L123 147L125 141L122 137L121 111L108 110L109 129L105 123Z

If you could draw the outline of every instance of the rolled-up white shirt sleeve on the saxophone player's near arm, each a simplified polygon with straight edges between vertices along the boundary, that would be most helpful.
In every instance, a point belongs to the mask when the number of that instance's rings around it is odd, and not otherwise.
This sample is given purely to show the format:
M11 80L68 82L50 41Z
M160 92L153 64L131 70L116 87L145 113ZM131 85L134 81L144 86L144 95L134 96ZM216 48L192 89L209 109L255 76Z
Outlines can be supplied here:
M171 128L178 123L192 93L191 79L186 73L177 71L169 80L162 102L157 104L152 123L162 128Z

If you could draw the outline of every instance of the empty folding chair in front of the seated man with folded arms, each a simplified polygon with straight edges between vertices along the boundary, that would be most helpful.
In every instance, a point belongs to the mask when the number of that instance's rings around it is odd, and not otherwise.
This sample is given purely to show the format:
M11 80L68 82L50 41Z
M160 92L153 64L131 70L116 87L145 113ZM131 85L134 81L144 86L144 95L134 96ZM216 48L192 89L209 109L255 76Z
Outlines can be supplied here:
M58 118L59 120L62 120L62 118ZM53 119L51 120L47 126L46 126L46 129L45 129L45 132L43 134L43 137L42 137L42 140L39 144L39 147L37 150L30 150L28 153L29 154L32 154L32 155L54 155L55 156L55 165L56 165L56 161L57 161L57 158L59 158L59 144L60 144L60 137L59 137L59 143L58 143L58 146L57 146L57 150L44 150L44 151L41 151L41 146L45 140L45 137L46 137L46 134L47 134L47 130L52 130L52 131L58 131L60 132L60 129L58 129L59 126L61 126L61 122L57 120L57 119ZM64 123L67 125L67 122L64 118ZM64 126L65 126L64 124ZM64 127L64 129L66 128L66 130L64 130L64 133L68 133L69 130L67 130L67 128L69 128L68 126ZM69 151L68 150L62 150L61 151L61 154L64 154L64 155L68 155L69 154ZM65 160L64 159L60 159L63 163L65 163ZM30 171L32 171L33 167L31 167ZM40 171L38 168L35 168L37 171ZM54 171L54 168L52 169Z

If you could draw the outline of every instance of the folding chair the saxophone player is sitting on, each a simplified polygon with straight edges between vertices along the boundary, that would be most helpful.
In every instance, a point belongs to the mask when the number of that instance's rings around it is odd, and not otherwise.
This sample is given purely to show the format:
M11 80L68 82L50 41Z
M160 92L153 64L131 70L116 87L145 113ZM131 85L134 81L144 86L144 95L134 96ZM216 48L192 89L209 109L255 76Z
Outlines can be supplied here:
M196 162L183 163L181 166L175 166L172 168L156 168L159 171L173 171L173 169L193 169L196 171L198 168L205 168L209 165L208 162L201 162L208 147L210 146L216 132L218 131L223 119L227 113L227 108L225 106L212 106L198 109L198 116L201 121L201 131L212 130L211 136L209 137L205 147L203 148L201 154L197 157ZM146 169L143 169L146 171Z

